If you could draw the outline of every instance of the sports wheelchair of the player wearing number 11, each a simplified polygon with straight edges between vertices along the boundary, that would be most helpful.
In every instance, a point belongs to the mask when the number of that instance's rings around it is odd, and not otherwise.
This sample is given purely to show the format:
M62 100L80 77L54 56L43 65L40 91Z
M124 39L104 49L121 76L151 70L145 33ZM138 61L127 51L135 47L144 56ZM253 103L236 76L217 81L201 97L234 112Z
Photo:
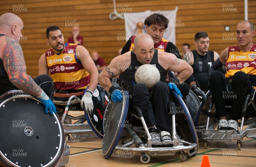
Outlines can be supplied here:
M103 138L102 123L100 122L102 122L105 108L109 102L109 93L98 85L92 96L93 113L85 114L80 103L86 90L87 88L81 91L55 91L54 93L53 103L63 123L66 142L82 142L97 136ZM76 113L76 116L73 116L72 113Z

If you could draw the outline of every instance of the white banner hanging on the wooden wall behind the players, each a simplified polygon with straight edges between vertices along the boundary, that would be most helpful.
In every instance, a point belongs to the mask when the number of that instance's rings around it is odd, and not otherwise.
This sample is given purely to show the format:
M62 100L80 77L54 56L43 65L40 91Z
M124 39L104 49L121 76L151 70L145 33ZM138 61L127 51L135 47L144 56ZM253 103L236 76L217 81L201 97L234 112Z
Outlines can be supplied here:
M132 35L146 33L144 20L146 17L154 13L163 14L165 17L169 19L170 22L168 24L168 28L166 28L163 34L163 38L175 44L176 42L175 23L176 23L177 7L175 8L175 10L171 10L171 11L145 11L145 12L124 13L126 41Z

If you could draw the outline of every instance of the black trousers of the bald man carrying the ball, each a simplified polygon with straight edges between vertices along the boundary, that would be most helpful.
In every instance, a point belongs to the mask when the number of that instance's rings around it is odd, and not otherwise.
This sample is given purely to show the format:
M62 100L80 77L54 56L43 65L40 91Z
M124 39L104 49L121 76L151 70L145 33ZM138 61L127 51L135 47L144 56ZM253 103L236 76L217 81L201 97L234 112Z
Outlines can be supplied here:
M159 130L171 132L167 107L170 95L166 82L158 82L150 90L143 84L136 84L130 92L131 103L142 110L147 127L156 125Z

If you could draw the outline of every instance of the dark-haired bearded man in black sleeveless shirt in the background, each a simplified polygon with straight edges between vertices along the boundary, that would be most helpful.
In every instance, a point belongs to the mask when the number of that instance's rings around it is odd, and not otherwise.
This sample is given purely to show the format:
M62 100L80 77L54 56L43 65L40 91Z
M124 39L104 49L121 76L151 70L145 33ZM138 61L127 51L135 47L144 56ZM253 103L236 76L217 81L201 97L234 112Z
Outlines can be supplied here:
M209 37L206 32L195 34L195 50L187 52L183 60L188 62L193 68L193 76L198 82L202 91L209 90L209 68L218 59L219 55L215 51L208 51Z

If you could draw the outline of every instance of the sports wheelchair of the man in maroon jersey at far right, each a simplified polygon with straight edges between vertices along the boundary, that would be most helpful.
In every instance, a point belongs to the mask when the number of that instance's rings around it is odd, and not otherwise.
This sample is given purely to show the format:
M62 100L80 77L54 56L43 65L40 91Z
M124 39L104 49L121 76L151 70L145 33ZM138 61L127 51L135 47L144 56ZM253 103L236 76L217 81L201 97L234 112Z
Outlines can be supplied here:
M241 114L241 122L239 123L240 129L236 130L218 130L218 115L215 112L215 106L212 103L212 97L210 91L207 92L207 102L204 104L201 102L198 111L195 116L194 124L198 133L199 141L204 142L204 148L209 147L208 141L219 142L232 142L236 140L238 150L242 148L242 140L246 136L248 139L256 139L256 118L255 115L249 115L247 109L256 111L254 103L256 91L253 89L251 94L247 94ZM225 106L227 112L231 109L230 105ZM226 116L229 118L229 115ZM251 118L254 117L254 118ZM244 128L244 125L248 125Z

